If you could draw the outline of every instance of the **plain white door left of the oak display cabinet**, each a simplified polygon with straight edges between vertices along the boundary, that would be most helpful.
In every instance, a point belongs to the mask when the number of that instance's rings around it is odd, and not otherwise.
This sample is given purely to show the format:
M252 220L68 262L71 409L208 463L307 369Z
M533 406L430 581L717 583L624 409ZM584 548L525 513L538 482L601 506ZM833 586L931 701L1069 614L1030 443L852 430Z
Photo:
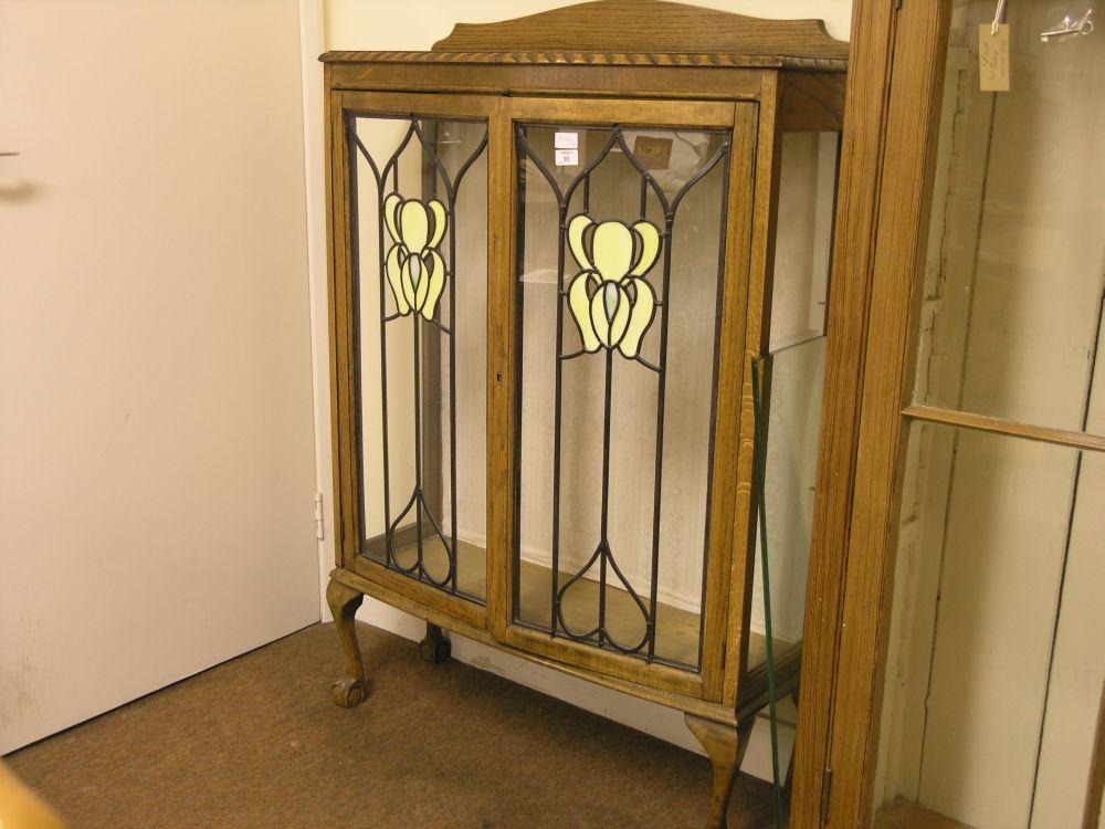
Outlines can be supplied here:
M0 753L318 620L296 0L0 0Z

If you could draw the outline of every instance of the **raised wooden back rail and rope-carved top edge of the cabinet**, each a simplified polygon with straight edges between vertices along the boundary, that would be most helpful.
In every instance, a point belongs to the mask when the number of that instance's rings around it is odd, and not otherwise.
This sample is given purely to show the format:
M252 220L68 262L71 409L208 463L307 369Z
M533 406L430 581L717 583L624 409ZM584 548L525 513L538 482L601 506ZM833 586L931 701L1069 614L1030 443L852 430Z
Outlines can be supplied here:
M596 0L498 23L457 23L429 52L327 52L325 63L727 66L844 72L820 20L766 20L664 0Z

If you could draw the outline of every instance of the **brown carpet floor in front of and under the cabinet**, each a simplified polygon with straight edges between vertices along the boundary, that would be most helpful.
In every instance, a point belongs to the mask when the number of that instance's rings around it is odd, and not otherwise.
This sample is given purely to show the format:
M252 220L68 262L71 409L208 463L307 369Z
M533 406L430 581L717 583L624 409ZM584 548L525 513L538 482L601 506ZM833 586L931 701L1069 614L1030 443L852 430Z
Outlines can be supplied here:
M359 636L372 681L356 709L330 702L340 649L316 625L7 759L73 829L705 825L705 758ZM771 787L739 776L730 828L770 825Z

